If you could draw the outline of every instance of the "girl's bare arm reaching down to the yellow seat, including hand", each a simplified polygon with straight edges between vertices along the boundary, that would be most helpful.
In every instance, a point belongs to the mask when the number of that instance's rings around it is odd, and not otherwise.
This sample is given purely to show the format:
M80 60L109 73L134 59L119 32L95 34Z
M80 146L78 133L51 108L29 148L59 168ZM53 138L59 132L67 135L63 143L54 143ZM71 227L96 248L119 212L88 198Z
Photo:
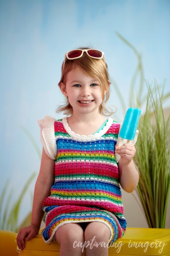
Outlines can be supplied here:
M44 149L42 152L41 167L37 181L35 183L34 200L31 225L21 228L17 236L18 247L22 250L25 247L25 237L27 241L32 239L39 232L44 212L42 205L44 199L50 195L50 188L54 183L54 160L48 157Z

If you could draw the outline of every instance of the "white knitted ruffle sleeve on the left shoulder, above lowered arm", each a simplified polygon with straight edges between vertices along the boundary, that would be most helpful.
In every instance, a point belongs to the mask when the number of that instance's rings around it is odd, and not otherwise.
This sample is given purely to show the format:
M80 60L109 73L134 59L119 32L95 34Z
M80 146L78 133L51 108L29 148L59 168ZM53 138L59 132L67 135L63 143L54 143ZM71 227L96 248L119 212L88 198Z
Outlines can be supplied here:
M55 132L54 132L55 118L46 115L44 119L39 119L41 142L48 157L55 159L57 153Z

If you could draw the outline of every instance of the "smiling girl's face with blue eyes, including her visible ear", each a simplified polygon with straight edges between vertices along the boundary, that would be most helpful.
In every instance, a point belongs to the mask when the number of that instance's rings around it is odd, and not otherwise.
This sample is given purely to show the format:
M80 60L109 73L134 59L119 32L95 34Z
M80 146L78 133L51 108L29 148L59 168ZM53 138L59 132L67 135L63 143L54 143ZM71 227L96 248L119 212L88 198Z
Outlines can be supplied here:
M98 113L103 100L101 84L95 78L87 76L78 66L68 72L66 83L61 83L60 89L68 97L73 114Z

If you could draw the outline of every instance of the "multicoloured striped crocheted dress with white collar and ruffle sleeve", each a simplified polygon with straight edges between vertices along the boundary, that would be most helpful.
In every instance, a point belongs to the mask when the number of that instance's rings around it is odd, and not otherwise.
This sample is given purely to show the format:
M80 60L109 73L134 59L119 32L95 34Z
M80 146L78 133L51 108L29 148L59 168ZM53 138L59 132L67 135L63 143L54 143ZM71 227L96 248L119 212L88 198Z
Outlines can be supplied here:
M55 183L43 203L44 241L50 243L65 223L94 221L109 227L110 244L122 237L126 219L114 154L120 123L108 118L102 130L89 136L75 134L67 117L46 116L39 126L44 150L55 160Z

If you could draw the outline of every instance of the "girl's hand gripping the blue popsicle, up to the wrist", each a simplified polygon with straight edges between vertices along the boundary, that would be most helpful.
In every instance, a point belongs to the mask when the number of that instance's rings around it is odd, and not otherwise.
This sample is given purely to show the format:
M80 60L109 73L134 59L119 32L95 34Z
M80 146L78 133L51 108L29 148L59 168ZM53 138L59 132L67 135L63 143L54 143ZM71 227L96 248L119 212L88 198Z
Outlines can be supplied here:
M126 165L132 161L132 159L136 153L136 149L133 144L125 143L122 146L116 145L115 153L120 155L121 163Z

